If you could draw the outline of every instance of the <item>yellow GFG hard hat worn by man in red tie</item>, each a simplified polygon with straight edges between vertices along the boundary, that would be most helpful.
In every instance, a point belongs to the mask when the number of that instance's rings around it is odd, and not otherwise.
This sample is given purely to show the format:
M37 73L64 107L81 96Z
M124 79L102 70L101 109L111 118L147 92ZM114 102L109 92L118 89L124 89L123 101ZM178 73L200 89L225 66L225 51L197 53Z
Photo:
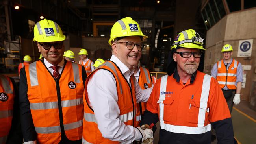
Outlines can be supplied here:
M59 25L47 19L41 20L35 24L34 36L33 41L37 42L64 41L66 38Z

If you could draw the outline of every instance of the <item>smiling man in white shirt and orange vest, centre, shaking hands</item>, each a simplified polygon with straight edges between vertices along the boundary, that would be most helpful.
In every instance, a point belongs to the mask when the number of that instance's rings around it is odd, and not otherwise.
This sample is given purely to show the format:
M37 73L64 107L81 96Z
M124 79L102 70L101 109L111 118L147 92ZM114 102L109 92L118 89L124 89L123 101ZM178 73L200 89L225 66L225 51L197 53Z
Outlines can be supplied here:
M130 17L117 21L110 37L113 55L85 82L83 144L151 144L153 131L135 127L135 113L136 103L147 101L152 88L141 90L133 74L148 37Z

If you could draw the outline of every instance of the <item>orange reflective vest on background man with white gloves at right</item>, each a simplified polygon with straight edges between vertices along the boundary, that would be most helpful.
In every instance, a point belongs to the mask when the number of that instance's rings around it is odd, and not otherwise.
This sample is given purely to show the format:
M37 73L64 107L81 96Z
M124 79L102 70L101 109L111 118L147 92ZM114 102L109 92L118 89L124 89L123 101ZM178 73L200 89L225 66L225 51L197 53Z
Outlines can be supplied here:
M223 60L217 62L218 73L216 79L221 88L224 88L226 85L228 89L236 89L236 71L238 64L239 62L233 59L227 70Z

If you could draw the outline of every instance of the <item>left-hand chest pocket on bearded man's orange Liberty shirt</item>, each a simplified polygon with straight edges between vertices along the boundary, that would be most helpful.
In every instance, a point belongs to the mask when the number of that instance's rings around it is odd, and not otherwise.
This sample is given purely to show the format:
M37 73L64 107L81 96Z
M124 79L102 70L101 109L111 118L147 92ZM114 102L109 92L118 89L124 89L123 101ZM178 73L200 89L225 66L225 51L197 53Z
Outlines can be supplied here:
M159 108L160 108L160 120L170 122L173 118L173 106L174 100L163 100L163 102L159 101Z

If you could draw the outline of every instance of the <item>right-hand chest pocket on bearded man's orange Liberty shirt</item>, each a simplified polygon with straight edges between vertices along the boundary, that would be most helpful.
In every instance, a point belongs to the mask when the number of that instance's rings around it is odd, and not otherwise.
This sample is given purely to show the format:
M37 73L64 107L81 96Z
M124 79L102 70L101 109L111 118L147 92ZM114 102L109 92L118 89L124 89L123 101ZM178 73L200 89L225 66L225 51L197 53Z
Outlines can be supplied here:
M187 122L191 124L204 124L206 118L208 118L209 113L206 112L208 102L200 102L195 100L189 100Z

